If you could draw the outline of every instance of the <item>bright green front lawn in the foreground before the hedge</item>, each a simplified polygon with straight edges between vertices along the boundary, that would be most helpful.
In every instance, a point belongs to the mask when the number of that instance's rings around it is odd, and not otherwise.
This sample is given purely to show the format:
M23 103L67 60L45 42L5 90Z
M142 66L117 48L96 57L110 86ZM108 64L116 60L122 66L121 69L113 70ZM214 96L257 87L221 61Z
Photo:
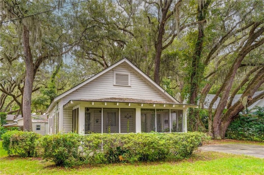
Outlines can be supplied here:
M0 143L0 174L263 174L264 159L225 154L196 152L189 159L178 162L117 163L108 165L82 165L73 168L55 167L41 158L8 157Z

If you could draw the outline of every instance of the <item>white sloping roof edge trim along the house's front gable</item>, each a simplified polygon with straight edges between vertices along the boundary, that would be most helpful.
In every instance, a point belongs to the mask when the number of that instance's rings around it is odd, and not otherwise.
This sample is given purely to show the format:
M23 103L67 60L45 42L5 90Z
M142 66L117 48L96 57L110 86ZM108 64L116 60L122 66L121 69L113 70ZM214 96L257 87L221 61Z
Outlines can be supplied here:
M54 98L54 100L51 102L51 104L49 105L47 111L50 110L50 108L53 106L54 102L60 100L61 98L63 98L64 96L70 94L71 92L73 92L74 90L77 90L78 88L82 87L83 85L86 85L87 83L91 82L92 80L96 79L97 77L103 75L104 73L106 73L107 71L113 69L114 67L118 66L119 64L122 63L126 63L127 65L129 65L130 68L134 69L139 75L141 75L142 77L145 78L145 80L147 80L151 85L153 85L158 91L160 91L164 96L166 96L168 99L172 100L173 102L175 102L176 104L181 104L178 100L176 100L175 98L173 98L173 96L171 96L166 90L164 90L160 85L158 85L155 81L153 81L149 76L147 76L142 70L140 70L139 68L137 68L133 63L131 63L128 59L123 58L120 61L116 62L115 64L109 66L108 68L102 70L101 72L99 72L98 74L92 76L91 78L83 81L82 83L80 83L79 85L74 86L73 88L65 91L64 93L58 95L57 97Z

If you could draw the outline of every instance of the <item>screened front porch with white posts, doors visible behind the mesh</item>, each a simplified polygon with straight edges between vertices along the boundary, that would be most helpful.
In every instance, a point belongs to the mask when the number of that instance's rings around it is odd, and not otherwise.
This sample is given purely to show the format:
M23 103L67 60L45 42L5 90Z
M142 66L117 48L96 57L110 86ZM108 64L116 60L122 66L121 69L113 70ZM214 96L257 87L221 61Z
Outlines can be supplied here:
M91 133L184 132L183 110L149 108L96 108L72 110L72 131ZM137 112L138 111L138 112ZM79 115L80 113L84 113Z

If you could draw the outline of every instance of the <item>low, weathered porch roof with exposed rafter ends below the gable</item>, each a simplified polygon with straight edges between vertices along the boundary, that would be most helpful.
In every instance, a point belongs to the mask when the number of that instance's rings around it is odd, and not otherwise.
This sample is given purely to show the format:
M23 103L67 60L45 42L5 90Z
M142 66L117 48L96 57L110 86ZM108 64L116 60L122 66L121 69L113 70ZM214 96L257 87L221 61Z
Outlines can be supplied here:
M138 103L138 104L169 104L169 105L177 105L182 107L191 107L191 108L197 108L198 105L190 105L190 104L179 104L179 103L172 103L167 101L157 101L157 100L142 100L142 99L133 99L133 98L102 98L102 99L79 99L79 100L69 100L67 104L64 106L67 106L69 103L73 101L87 101L87 102L114 102L114 103Z

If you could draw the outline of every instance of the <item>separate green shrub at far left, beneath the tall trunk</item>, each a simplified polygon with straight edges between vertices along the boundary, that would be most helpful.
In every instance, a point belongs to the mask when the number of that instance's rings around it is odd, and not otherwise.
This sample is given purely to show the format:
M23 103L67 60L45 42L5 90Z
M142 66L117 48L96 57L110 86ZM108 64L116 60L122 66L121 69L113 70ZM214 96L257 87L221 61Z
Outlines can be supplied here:
M40 137L41 135L35 132L8 131L2 135L3 149L8 155L33 157L36 156L35 141Z

